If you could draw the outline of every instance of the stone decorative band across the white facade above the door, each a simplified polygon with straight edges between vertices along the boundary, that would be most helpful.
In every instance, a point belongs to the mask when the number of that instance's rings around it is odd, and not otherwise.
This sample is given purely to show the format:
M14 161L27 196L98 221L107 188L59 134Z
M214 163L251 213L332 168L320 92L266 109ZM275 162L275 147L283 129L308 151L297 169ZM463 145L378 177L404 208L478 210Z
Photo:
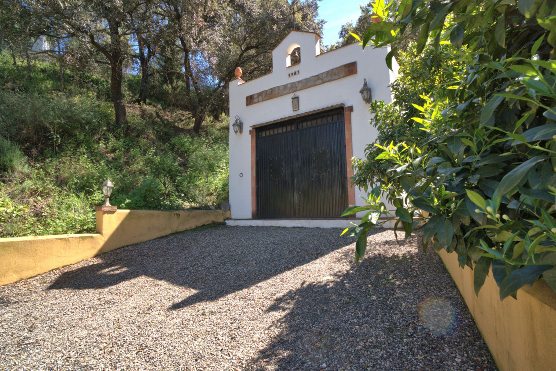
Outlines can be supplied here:
M278 98L287 94L311 88L320 84L331 82L357 73L357 62L344 64L343 66L329 69L315 76L307 77L299 81L290 82L284 85L275 86L259 93L251 94L245 97L245 106L251 104L268 101L269 99Z

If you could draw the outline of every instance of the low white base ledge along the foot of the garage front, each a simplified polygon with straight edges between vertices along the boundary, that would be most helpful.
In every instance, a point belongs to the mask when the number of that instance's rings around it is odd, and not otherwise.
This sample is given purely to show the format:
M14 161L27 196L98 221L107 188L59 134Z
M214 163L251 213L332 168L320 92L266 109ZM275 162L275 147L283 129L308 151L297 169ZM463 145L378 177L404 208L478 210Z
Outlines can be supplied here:
M243 227L305 227L305 228L347 228L359 224L361 219L227 219L226 225ZM394 228L395 220L389 220L382 226Z

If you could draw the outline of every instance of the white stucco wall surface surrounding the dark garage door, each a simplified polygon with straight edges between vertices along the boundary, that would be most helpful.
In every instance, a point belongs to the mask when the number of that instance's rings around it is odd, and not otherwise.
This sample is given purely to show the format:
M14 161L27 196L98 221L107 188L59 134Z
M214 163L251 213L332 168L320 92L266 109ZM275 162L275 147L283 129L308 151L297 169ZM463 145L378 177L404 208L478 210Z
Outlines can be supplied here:
M320 38L316 34L294 31L272 52L271 74L247 82L239 79L230 82L230 206L234 219L251 218L251 126L344 103L345 106L353 106L351 130L354 156L363 158L365 147L376 138L376 129L369 123L369 105L361 98L359 89L363 86L363 78L366 78L373 91L373 99L391 101L389 85L395 72L392 73L386 67L388 49L368 47L363 50L360 45L352 44L318 56L319 42ZM299 44L301 48L301 63L286 68L286 51L292 49L292 44ZM299 111L292 111L293 93L250 106L245 104L246 96L350 62L357 62L356 74L295 92L299 96ZM298 70L299 74L288 77L288 73ZM236 115L244 123L243 133L237 135L231 126ZM240 177L240 173L243 177ZM364 195L364 192L356 188L357 205L364 204L360 195Z

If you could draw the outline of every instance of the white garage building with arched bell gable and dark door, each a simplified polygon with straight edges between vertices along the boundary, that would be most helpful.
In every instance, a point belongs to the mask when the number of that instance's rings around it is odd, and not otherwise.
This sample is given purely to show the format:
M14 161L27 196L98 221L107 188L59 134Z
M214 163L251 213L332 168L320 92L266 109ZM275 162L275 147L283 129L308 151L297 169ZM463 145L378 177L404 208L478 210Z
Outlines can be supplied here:
M292 31L272 51L272 73L230 82L229 224L346 224L345 208L364 204L351 157L376 138L360 89L366 79L372 99L391 101L387 53L351 44L320 54L318 34Z

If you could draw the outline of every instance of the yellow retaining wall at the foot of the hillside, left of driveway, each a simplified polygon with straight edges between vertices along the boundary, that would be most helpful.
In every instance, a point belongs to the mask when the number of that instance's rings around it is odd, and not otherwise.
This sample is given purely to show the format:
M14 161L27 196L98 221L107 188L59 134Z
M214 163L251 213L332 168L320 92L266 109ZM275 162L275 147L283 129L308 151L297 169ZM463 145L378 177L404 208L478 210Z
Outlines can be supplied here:
M222 210L99 210L97 233L0 238L0 285L227 218Z

